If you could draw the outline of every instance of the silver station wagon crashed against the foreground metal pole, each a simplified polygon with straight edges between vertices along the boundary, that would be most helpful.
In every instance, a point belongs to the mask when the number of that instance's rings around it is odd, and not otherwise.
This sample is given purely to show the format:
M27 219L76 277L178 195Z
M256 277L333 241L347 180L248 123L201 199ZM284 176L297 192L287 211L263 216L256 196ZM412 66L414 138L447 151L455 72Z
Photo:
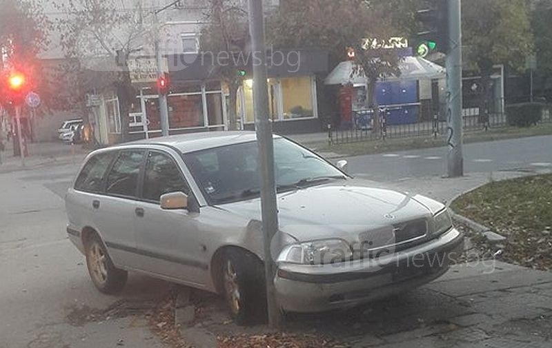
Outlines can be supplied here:
M274 137L282 311L353 307L428 283L462 253L446 207L370 187ZM66 195L67 232L94 285L127 272L223 294L239 323L266 310L254 132L207 132L92 152Z

